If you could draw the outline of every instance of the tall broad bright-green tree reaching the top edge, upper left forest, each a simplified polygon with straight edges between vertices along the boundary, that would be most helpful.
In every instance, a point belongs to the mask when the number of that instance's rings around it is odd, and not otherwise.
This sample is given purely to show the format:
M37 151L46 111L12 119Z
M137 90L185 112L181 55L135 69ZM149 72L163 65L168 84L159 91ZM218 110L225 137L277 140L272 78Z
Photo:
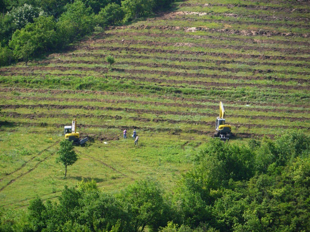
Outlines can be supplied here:
M87 8L84 2L78 0L67 4L66 11L60 16L57 26L60 37L68 43L92 32L94 22L91 7Z

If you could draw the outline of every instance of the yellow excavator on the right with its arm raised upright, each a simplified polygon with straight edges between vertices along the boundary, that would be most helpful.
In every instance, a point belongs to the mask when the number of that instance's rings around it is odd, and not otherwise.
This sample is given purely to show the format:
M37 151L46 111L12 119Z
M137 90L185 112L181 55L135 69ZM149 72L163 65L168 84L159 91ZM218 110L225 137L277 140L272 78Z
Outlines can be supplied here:
M232 127L229 124L225 123L225 110L224 105L220 101L219 102L219 117L216 118L215 130L214 133L215 138L220 138L223 141L229 140L232 137L231 131Z

